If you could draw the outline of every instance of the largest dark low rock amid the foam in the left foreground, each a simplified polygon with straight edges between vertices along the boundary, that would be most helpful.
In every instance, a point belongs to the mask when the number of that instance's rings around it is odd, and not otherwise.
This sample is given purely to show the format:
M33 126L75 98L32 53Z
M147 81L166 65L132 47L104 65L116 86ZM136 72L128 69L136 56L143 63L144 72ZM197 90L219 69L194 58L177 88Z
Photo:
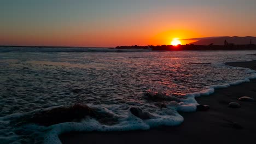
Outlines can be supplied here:
M98 122L107 125L118 122L118 118L112 113L99 112L85 104L74 104L73 106L62 106L37 112L31 117L22 119L22 123L49 126L64 122L79 122L86 117L95 118Z

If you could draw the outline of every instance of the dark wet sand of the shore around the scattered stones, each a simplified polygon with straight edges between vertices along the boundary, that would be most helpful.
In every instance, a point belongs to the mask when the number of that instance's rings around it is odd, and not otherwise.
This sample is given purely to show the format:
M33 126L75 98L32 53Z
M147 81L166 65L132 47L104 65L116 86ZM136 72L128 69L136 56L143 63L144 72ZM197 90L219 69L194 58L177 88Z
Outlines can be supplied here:
M256 70L256 61L226 64ZM210 96L197 98L199 104L210 105L210 109L181 113L184 122L177 127L105 133L67 133L59 137L62 143L255 143L256 101L237 100L243 96L256 99L256 80L216 89ZM229 108L231 101L239 103L241 107Z

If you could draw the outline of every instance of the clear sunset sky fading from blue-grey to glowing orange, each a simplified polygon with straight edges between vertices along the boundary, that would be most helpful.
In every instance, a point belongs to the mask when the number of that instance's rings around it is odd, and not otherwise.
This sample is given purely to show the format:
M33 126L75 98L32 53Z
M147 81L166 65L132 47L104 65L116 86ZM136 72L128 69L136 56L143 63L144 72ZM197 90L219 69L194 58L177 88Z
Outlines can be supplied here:
M114 47L256 36L255 5L255 0L0 0L0 45Z

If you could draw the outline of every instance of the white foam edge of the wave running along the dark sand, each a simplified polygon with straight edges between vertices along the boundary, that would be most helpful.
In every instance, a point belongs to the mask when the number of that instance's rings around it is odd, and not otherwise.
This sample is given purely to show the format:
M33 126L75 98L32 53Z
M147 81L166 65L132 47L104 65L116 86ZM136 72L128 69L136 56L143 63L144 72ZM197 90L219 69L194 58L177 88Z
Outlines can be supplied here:
M231 67L231 66L228 66ZM124 115L118 116L119 123L114 125L107 125L98 122L96 119L88 117L84 118L80 122L65 122L51 125L50 127L42 127L35 124L27 124L22 129L24 130L34 130L37 131L38 137L43 137L43 143L61 143L59 140L59 135L71 131L128 131L128 130L148 130L150 128L158 127L160 125L180 125L183 123L184 118L179 114L179 112L194 112L196 111L196 106L199 105L196 101L196 97L211 95L214 93L215 89L218 88L226 88L233 85L239 85L243 82L249 82L251 79L256 79L256 71L247 69L249 72L254 73L252 76L244 77L242 80L238 80L235 82L226 83L224 85L214 85L209 86L205 90L201 92L195 93L187 93L184 98L179 98L181 102L176 101L169 101L164 109L161 109L161 112L147 112L149 115L152 115L152 118L149 119L141 119L134 115L130 111L127 110L127 113ZM89 105L90 107L96 107L101 112L104 113L111 113L105 107L97 106L97 105ZM54 107L50 107L49 109L54 109ZM156 110L158 111L158 110ZM160 110L159 110L160 111ZM20 117L31 116L34 112L28 113L15 113L9 116L1 117L0 118L0 127L1 125L8 125L11 123L13 119L18 119ZM48 131L45 133L45 131ZM7 137L8 139L19 139L17 137ZM3 140L4 141L4 140ZM15 141L15 140L14 140ZM9 142L5 141L6 143Z

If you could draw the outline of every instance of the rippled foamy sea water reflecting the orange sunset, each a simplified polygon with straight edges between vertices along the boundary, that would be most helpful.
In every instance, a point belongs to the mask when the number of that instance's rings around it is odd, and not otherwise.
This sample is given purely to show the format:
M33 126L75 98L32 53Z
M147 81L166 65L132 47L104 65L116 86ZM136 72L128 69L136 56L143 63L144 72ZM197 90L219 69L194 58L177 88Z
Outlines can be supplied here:
M255 78L254 70L224 65L252 61L255 56L247 55L252 53L256 51L0 48L0 141L60 143L57 136L67 131L179 125L183 117L178 112L195 111L195 97ZM149 90L179 101L148 100L145 93ZM17 125L20 117L74 103L111 113L118 122L106 125L86 118L50 127ZM159 103L166 108L160 108ZM131 107L139 107L153 118L142 120L131 114Z

